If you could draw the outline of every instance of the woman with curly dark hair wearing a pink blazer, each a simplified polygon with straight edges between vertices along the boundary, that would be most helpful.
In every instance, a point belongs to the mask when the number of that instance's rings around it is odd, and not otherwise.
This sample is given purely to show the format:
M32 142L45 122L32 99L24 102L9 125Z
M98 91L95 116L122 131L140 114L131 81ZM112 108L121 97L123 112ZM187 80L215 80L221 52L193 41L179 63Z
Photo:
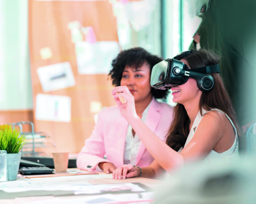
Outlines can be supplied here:
M167 90L156 90L150 85L152 68L161 61L161 58L141 47L123 50L112 61L113 68L109 75L113 85L126 86L129 89L134 96L137 114L165 141L173 118L173 107L156 100L165 98ZM100 168L106 173L111 173L123 164L133 163L146 167L153 160L118 107L113 106L98 114L92 135L78 154L77 167L91 171Z

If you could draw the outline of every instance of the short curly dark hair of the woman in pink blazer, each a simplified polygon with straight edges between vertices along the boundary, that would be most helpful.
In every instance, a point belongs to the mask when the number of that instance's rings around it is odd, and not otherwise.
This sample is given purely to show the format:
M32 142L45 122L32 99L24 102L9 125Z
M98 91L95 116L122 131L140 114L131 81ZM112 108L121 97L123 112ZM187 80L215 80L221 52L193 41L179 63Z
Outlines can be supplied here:
M147 62L150 64L150 70L152 71L153 66L162 60L162 58L152 55L142 47L122 50L111 64L113 68L110 70L109 76L111 76L112 84L114 86L120 86L122 73L125 66L133 66L138 69L144 64L144 62ZM159 90L152 87L151 93L155 98L166 98L169 91Z

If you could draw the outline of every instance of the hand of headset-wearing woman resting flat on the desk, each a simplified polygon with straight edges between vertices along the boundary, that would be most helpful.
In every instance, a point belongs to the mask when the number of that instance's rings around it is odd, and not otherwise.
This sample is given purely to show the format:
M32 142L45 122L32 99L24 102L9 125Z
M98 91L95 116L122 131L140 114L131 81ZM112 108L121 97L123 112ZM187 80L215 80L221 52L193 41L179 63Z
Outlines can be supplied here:
M137 177L140 174L140 170L134 167L132 164L124 164L118 167L112 174L113 179L125 179L131 177Z

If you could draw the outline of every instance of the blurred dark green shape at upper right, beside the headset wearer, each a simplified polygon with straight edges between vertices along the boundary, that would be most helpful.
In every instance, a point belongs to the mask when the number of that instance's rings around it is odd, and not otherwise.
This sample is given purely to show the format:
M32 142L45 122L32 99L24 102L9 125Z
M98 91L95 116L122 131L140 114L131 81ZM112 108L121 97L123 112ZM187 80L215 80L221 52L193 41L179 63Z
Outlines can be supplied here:
M210 0L197 31L200 46L221 54L220 74L240 125L256 113L256 1Z

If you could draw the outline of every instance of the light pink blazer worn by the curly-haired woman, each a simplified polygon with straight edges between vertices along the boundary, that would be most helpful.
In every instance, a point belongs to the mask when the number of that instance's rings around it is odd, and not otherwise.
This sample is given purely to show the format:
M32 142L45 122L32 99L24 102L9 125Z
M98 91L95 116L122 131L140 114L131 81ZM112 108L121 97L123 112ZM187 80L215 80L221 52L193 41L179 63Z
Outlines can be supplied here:
M173 107L159 103L153 98L145 124L163 141L166 140L165 136L172 119ZM123 165L127 127L128 122L122 117L117 106L102 110L98 114L92 135L85 141L78 154L77 167L93 171L100 162L111 162L116 167ZM103 159L104 156L106 159ZM134 165L145 167L153 160L141 142Z

